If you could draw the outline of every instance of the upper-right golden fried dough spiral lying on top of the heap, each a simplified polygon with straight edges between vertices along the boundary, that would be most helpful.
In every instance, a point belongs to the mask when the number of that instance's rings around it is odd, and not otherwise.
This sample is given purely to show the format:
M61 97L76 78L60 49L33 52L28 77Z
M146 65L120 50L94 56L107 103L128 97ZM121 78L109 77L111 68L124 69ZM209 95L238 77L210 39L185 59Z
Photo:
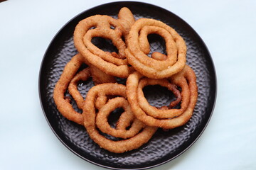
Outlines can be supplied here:
M161 35L166 41L166 60L148 57L149 33ZM125 53L129 64L146 77L163 79L180 72L186 64L186 43L176 31L161 21L140 18L129 31Z

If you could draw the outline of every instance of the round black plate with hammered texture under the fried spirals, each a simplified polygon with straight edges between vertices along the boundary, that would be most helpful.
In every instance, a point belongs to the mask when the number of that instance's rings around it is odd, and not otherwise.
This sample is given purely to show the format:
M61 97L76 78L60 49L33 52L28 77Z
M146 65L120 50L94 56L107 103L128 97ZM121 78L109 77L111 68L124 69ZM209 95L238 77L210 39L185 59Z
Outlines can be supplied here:
M165 132L158 130L146 145L124 154L114 154L95 144L84 127L60 115L53 101L53 88L63 72L65 64L76 54L73 45L73 31L77 23L88 16L106 14L117 18L120 8L127 6L136 18L154 18L176 29L187 45L187 64L196 72L198 83L198 102L191 120L181 128ZM161 43L151 37L154 50L163 52ZM80 84L85 96L92 86L91 81ZM163 89L145 89L149 103L161 106L170 98ZM156 93L157 92L157 93ZM58 139L82 159L110 169L147 169L169 162L186 151L206 128L213 112L216 98L216 77L213 61L208 49L199 35L178 16L164 8L138 2L114 2L91 8L70 20L55 35L41 64L39 75L39 94L46 120Z

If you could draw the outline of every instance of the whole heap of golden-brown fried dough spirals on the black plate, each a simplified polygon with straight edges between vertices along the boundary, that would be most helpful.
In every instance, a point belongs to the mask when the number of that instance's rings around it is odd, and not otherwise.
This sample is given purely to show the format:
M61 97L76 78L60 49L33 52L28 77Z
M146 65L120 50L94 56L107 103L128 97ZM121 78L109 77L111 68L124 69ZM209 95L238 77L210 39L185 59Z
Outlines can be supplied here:
M166 55L152 52L151 57L147 56L149 34L164 38ZM118 52L100 50L92 44L95 37L112 40ZM100 147L114 153L137 149L158 128L176 128L191 118L198 96L196 75L186 65L186 43L170 26L149 18L135 21L132 11L124 7L117 19L95 15L80 21L74 31L74 43L78 54L65 65L53 99L58 111L68 120L84 125ZM82 69L84 63L87 67ZM83 98L78 84L90 77L95 86ZM116 77L127 78L126 86L117 84ZM150 106L142 89L156 84L172 91L176 100L169 106ZM82 114L75 111L66 93ZM179 103L180 108L173 108ZM108 117L116 108L123 108L124 112L112 128Z

